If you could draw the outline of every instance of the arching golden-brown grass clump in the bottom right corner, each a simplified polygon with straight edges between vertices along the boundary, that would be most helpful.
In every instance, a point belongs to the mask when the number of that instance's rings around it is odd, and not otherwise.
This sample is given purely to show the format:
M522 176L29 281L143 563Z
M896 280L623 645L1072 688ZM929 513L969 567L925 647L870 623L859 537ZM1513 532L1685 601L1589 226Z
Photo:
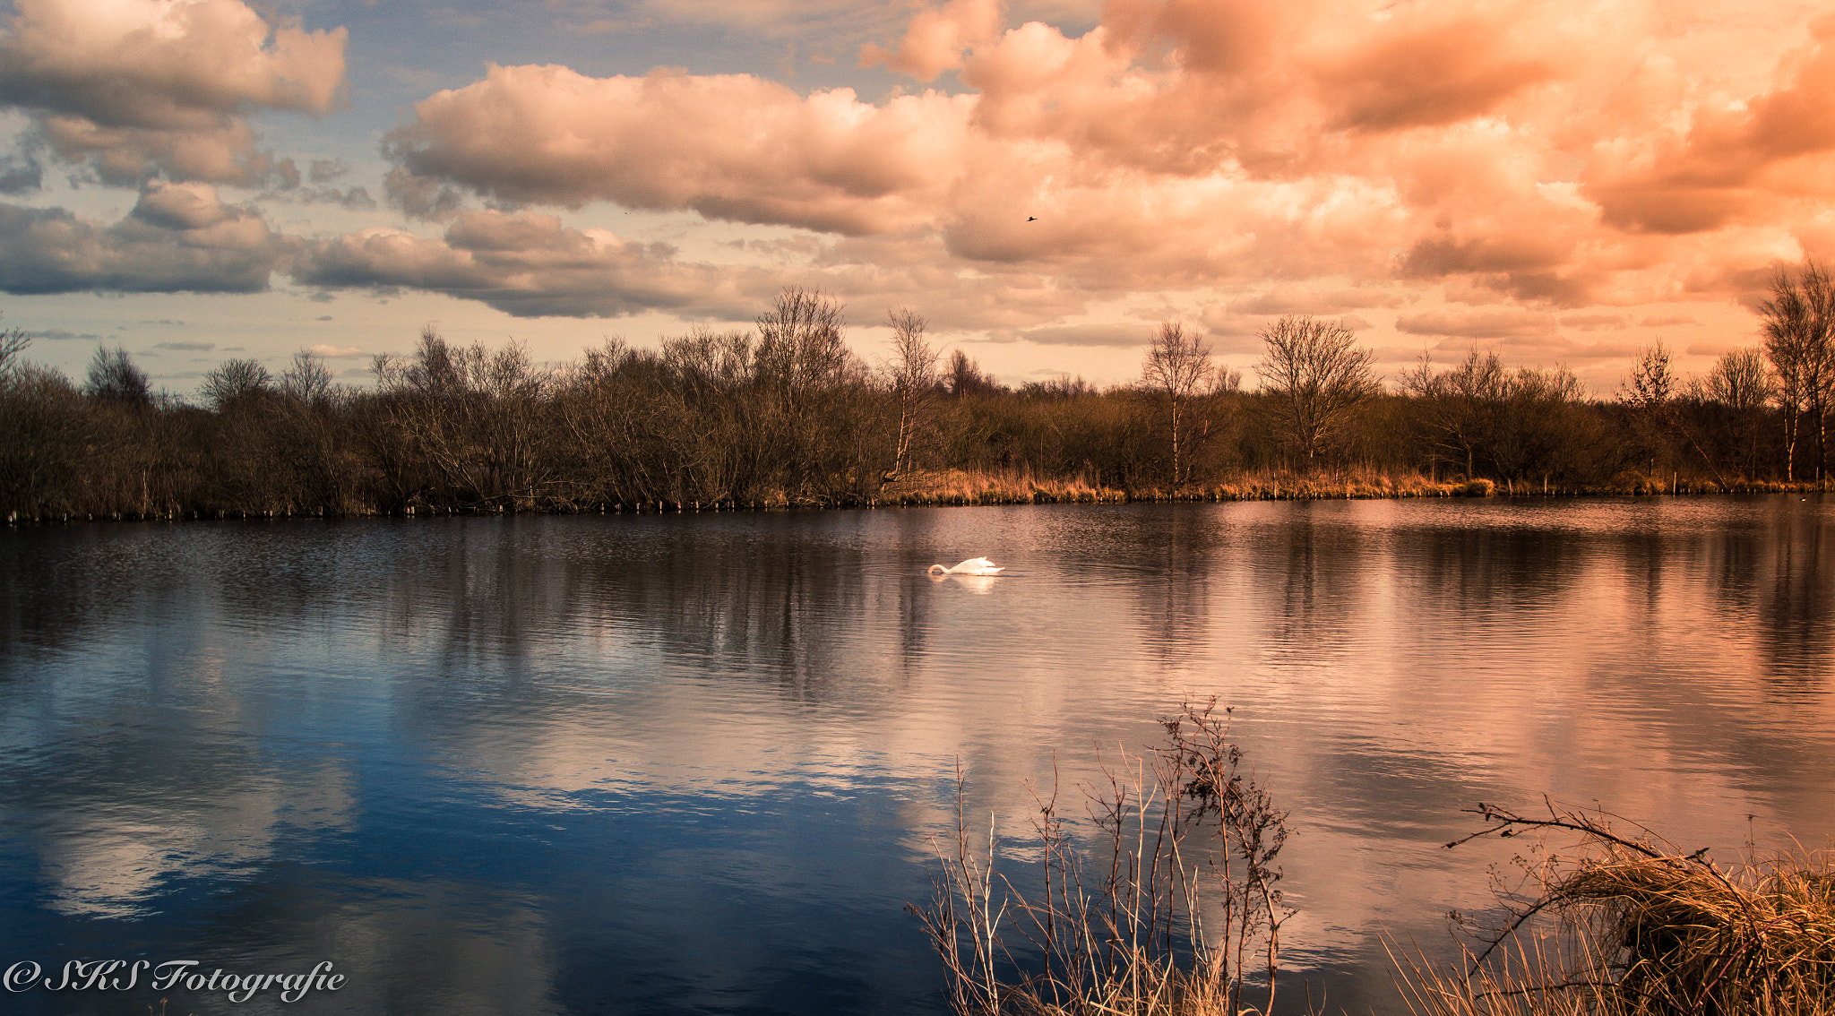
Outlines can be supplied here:
M1835 1012L1835 867L1828 855L1749 853L1721 867L1604 816L1527 818L1481 805L1475 836L1576 834L1574 855L1519 858L1521 893L1462 972L1406 963L1409 1007L1433 1016ZM1466 842L1459 840L1459 842ZM1457 845L1448 844L1448 845Z

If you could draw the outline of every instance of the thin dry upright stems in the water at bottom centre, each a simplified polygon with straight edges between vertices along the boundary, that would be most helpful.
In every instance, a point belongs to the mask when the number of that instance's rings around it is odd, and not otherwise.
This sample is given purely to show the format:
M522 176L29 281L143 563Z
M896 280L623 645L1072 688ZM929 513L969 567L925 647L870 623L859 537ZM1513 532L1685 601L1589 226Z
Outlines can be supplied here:
M1228 710L1185 704L1165 739L1123 754L1090 792L1088 849L1039 800L1039 884L996 875L996 829L971 836L958 774L956 836L918 913L963 1016L1209 1016L1273 1005L1286 812L1239 770Z

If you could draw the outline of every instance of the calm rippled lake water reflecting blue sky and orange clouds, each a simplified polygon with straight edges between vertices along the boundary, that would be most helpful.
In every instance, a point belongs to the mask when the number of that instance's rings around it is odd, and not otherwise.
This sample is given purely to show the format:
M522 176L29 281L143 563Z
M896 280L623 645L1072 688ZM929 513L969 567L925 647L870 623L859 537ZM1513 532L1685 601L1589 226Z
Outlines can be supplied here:
M1835 502L1281 502L0 534L0 966L347 981L7 1012L941 1012L901 906L1187 695L1292 811L1290 1003L1393 1012L1600 801L1835 836ZM987 554L995 580L925 576ZM1018 862L1015 862L1018 864Z

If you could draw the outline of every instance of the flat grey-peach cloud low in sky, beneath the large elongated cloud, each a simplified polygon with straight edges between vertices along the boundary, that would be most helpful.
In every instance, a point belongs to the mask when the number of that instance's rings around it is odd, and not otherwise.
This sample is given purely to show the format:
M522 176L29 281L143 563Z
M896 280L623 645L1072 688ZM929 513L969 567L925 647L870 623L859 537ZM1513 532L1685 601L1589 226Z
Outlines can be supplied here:
M290 273L325 290L404 286L483 301L516 317L617 317L646 310L747 308L741 270L677 260L657 244L573 229L552 215L468 211L440 238L363 229L312 242Z

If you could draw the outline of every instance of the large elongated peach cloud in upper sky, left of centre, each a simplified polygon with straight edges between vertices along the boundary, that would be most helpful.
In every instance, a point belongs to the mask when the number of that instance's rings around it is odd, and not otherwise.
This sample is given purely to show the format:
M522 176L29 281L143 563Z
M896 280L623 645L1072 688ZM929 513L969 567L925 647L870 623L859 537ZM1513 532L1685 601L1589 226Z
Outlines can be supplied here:
M802 97L752 75L492 66L424 99L384 147L409 172L391 180L409 209L437 211L433 182L450 182L503 202L875 233L936 218L971 106L936 92L877 106L846 88Z

